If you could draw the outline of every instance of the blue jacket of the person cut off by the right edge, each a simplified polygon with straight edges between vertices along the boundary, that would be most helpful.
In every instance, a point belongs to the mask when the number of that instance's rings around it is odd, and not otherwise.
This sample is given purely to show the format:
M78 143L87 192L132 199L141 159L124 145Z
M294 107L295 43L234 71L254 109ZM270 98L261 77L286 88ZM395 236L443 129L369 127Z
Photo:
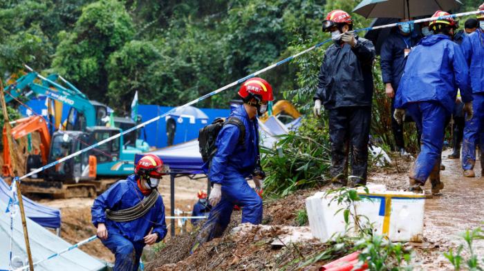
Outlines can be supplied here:
M484 31L478 28L460 46L469 66L472 92L484 92Z

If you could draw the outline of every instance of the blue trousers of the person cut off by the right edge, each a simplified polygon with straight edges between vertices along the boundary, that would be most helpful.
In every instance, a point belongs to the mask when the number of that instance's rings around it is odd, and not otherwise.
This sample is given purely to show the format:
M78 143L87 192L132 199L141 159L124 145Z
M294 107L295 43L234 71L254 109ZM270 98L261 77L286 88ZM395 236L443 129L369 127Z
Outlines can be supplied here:
M474 163L476 163L476 144L480 143L481 154L484 147L484 93L472 94L472 97L474 98L472 101L474 115L470 121L465 121L464 138L462 142L463 170L474 169Z

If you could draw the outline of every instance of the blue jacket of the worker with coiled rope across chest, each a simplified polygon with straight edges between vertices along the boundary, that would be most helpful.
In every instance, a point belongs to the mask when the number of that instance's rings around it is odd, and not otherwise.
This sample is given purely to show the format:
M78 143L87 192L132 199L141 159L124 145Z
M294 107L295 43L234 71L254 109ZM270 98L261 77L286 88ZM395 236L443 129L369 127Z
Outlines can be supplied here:
M165 205L161 196L158 197L151 210L139 219L127 222L115 222L106 219L106 209L117 211L131 208L143 198L145 196L138 188L136 175L130 175L126 180L116 182L94 200L91 208L94 226L97 228L98 223L104 223L108 234L115 232L132 242L144 242L143 237L147 236L149 230L153 228L153 233L158 233L158 240L156 241L161 241L167 235Z

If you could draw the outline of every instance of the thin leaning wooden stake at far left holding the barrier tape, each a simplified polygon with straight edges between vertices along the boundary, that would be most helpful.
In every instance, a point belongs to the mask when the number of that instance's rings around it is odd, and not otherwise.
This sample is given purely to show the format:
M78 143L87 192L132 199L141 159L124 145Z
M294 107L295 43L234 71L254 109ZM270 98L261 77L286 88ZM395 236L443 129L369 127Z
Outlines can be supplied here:
M7 111L7 105L5 103L5 93L3 92L3 83L1 82L0 79L0 101L1 101L1 108L3 110L3 120L4 120L4 125L7 130L7 135L8 135L8 150L10 151L10 161L12 161L12 169L13 172L17 173L15 171L15 160L13 159L13 156L15 155L13 150L12 150L12 137L10 137L10 123L8 119L8 111ZM7 146L3 146L3 148L6 148ZM20 207L20 214L22 218L22 226L24 227L24 239L25 239L25 247L27 250L27 256L28 256L28 265L30 266L30 271L34 271L34 264L32 261L32 252L30 252L30 243L28 241L28 231L27 231L27 221L25 218L25 211L24 211L24 201L22 199L22 193L20 190L20 182L17 182L17 197L19 198L19 207Z

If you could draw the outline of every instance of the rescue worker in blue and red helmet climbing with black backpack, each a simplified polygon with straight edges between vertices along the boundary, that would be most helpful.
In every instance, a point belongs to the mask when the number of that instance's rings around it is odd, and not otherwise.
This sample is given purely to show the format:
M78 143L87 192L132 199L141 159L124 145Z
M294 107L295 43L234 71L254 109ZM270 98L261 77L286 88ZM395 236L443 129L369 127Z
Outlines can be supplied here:
M237 118L243 123L244 139L239 142L241 128L232 123L225 123L218 132L216 153L212 161L204 165L213 184L209 197L212 210L191 252L199 245L222 236L230 223L234 205L242 208L242 223L257 225L262 221L262 199L257 192L265 174L260 168L257 115L265 113L268 102L274 100L272 87L264 79L252 78L242 84L239 96L243 104L232 111L230 118ZM245 180L250 176L256 190Z

